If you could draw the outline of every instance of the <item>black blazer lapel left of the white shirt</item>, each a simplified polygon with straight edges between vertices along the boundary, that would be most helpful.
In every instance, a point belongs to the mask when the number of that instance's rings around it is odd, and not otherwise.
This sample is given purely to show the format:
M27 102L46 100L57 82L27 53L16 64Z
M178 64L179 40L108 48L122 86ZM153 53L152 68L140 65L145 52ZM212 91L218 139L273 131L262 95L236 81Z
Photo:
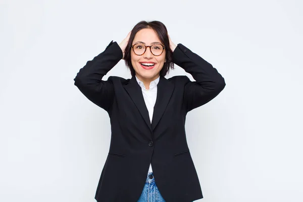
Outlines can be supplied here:
M134 104L138 108L140 114L142 115L145 123L149 127L151 131L151 124L150 119L148 115L148 110L145 105L145 101L142 94L142 89L140 85L138 84L135 76L133 76L129 83L124 86L124 88L127 90L128 94L130 95L131 99L133 100Z

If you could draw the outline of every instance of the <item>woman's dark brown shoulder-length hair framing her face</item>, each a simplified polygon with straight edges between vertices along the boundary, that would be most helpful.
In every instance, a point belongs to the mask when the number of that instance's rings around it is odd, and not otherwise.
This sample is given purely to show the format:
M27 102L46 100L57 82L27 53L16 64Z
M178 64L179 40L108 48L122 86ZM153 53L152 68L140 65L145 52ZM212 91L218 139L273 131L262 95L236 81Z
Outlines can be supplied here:
M174 63L173 63L173 52L169 46L167 29L165 25L160 21L150 21L150 22L141 21L134 26L134 28L131 30L129 41L125 48L125 55L124 55L125 65L129 68L131 75L134 76L136 72L131 64L131 56L130 56L131 45L135 38L136 33L141 29L145 29L145 28L154 29L160 41L165 46L164 51L166 52L166 56L165 56L166 62L164 63L163 68L160 71L160 76L165 76L169 72L169 69L174 69Z

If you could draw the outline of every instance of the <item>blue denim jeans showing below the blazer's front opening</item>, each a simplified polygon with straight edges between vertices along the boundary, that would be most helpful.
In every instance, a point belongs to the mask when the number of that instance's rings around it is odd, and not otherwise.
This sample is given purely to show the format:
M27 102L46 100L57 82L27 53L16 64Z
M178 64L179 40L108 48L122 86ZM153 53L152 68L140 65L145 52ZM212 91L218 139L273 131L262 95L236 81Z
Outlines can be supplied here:
M137 202L165 202L157 187L153 173L147 174L142 194Z

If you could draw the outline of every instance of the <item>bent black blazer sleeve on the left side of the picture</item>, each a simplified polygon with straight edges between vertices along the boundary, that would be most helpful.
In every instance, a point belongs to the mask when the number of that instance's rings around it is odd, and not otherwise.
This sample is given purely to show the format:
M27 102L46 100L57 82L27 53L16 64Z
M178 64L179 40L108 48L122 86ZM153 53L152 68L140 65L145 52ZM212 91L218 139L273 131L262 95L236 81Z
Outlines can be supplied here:
M114 100L114 86L110 78L102 80L123 57L117 42L111 41L105 51L88 61L74 78L74 84L94 104L109 111Z

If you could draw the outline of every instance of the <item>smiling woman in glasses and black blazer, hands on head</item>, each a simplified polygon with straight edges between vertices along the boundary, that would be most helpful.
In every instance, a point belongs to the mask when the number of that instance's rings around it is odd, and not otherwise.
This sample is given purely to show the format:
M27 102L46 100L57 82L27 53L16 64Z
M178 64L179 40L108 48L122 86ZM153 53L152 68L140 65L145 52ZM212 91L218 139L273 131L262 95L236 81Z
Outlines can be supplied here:
M121 59L132 78L102 78ZM190 73L164 76L174 63ZM180 201L203 198L185 135L187 112L208 103L224 78L198 55L175 45L165 25L141 21L118 44L80 69L75 85L111 119L109 154L97 201Z

